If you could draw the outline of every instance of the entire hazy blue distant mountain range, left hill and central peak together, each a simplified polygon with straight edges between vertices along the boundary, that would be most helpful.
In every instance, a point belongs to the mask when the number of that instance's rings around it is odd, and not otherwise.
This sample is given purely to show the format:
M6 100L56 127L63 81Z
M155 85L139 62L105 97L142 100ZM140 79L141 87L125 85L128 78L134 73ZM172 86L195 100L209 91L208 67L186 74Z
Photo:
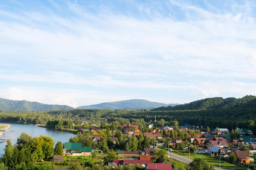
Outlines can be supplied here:
M149 102L143 99L130 99L118 102L106 102L89 106L73 108L67 105L42 104L26 100L9 100L0 98L0 110L28 110L28 111L51 111L51 110L74 110L74 109L152 109L158 107L176 106L179 104L164 104Z

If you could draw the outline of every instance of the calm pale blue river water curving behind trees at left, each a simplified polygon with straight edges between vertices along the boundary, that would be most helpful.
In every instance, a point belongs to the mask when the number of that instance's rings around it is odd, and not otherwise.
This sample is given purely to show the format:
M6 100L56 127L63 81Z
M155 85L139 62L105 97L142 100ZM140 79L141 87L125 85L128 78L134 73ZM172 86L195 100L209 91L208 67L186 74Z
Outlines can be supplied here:
M1 123L1 124L4 124L4 123ZM62 143L68 142L70 137L76 136L70 132L52 130L52 129L42 128L34 125L26 125L26 124L9 124L9 125L11 125L11 127L7 131L0 130L0 132L4 133L2 138L0 138L0 155L4 154L4 148L7 144L7 142L5 142L4 140L7 140L7 139L13 140L11 141L11 143L12 145L14 145L16 144L17 139L18 137L20 137L20 134L22 132L25 132L32 137L39 137L40 135L50 136L55 141L55 144L58 141L61 141Z

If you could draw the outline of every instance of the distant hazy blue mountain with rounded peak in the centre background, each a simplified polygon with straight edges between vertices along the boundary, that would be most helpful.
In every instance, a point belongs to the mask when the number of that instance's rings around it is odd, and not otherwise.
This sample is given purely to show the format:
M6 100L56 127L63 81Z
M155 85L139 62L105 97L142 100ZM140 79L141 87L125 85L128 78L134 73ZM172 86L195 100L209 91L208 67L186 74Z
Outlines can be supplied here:
M80 106L76 109L144 109L144 108L158 108L161 106L176 106L178 104L164 104L157 102L149 102L148 100L143 99L130 99L123 100L119 102L107 102L101 104L94 104L90 106Z

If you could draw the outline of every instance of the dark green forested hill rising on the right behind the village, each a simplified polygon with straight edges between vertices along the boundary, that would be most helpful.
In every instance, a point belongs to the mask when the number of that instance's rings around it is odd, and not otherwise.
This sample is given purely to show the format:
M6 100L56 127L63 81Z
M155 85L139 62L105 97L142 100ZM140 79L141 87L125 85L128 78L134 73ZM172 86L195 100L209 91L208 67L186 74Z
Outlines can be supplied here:
M177 106L166 106L154 108L152 111L168 111L168 110L208 110L218 108L252 108L256 107L256 97L253 95L247 95L243 98L236 99L229 97L223 99L222 97L213 97L197 100L189 104L180 104Z

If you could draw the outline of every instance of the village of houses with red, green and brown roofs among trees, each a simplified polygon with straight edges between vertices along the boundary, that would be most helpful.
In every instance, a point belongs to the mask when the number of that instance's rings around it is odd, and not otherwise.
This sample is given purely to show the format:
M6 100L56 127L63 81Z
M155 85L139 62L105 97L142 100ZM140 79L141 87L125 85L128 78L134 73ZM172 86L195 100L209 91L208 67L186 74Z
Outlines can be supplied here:
M132 125L130 123L121 127L121 132L126 136L124 140L128 140L129 137L139 139L139 135L142 134L143 137L150 139L149 145L148 147L143 147L141 150L115 150L117 158L120 159L109 161L108 166L117 168L119 165L140 164L145 170L172 170L173 164L164 161L163 158L157 159L156 162L152 161L156 152L166 149L168 150L167 157L170 157L169 152L175 153L175 151L182 151L189 152L189 154L195 152L205 154L209 157L218 157L223 161L232 161L233 163L255 169L254 158L251 156L256 153L256 143L253 141L254 134L251 130L236 128L235 132L239 132L235 136L237 139L231 139L230 132L227 128L216 127L212 131L198 132L199 130L196 130L190 124L184 124L182 128L177 130L177 132L186 134L184 138L171 138L172 133L175 132L172 127L154 127L153 124L148 126L152 128L152 132L139 130L138 125ZM89 130L85 130L84 128L78 129L78 132L82 134L87 131L95 135L83 136L83 138L90 138L96 146L101 140L111 140L113 145L119 142L118 137L103 137L103 135L100 135L101 129L96 126L90 126ZM103 150L93 148L92 146L82 146L81 142L66 142L63 146L63 155L54 155L54 161L63 161L63 156L91 157L94 154L93 152L102 154Z

